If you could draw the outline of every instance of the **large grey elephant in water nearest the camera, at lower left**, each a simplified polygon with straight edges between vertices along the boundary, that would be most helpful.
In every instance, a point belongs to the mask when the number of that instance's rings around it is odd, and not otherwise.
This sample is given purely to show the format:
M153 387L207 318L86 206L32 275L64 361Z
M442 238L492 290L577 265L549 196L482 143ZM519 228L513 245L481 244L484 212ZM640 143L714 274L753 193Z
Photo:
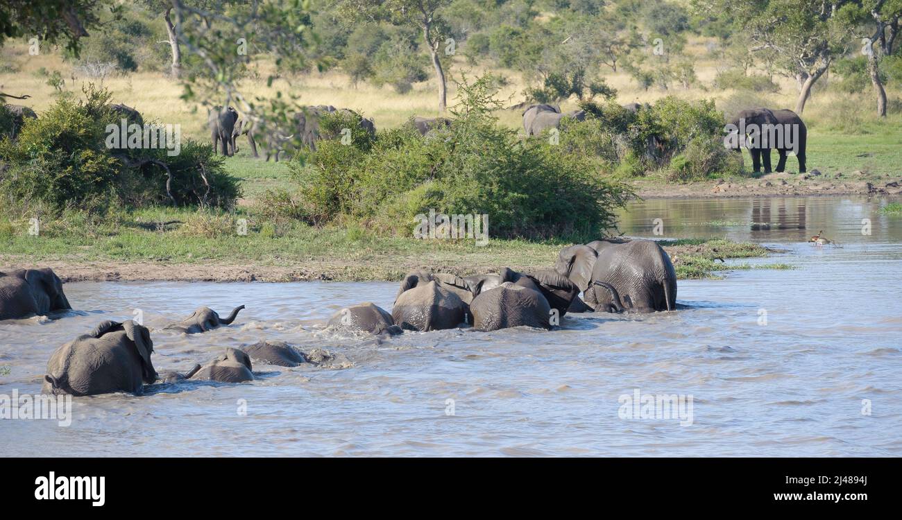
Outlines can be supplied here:
M152 353L146 327L132 320L105 321L53 352L41 393L94 396L129 392L140 396L145 384L157 380Z

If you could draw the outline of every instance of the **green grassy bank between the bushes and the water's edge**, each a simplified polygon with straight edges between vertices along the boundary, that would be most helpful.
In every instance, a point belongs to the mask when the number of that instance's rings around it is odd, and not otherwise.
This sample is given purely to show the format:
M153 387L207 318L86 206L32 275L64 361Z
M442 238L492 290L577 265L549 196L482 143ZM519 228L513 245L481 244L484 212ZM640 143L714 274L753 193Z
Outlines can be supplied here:
M421 268L459 275L502 267L547 269L568 245L491 240L481 247L473 240L382 237L354 226L262 221L244 210L228 214L160 208L103 219L71 212L41 222L38 235L29 234L29 226L25 220L0 218L0 266L48 265L67 279L397 280ZM679 278L744 269L715 259L769 252L724 240L667 242L665 249Z

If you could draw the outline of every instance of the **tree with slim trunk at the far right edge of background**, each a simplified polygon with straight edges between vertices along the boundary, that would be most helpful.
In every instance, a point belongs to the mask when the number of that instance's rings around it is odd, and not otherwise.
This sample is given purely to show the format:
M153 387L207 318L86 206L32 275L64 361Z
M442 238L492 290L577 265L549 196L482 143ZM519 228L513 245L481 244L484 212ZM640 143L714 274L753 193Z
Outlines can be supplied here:
M859 0L846 5L841 15L846 23L859 28L861 53L867 57L868 76L877 96L877 114L886 117L887 91L880 79L880 61L896 50L902 0Z

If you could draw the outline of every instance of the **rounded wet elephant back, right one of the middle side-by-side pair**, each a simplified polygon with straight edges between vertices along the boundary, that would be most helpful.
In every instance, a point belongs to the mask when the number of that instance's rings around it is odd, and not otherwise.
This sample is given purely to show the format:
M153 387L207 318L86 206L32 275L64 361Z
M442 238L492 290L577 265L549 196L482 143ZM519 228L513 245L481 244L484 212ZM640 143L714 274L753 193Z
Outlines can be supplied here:
M551 306L538 290L503 282L482 291L470 304L473 327L494 331L506 327L529 326L550 329Z

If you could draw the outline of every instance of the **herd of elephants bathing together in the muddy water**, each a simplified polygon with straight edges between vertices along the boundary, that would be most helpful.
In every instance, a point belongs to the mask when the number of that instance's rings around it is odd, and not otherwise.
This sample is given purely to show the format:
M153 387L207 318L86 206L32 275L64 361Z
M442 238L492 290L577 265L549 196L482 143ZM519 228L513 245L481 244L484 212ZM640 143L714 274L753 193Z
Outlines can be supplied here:
M583 293L584 298L579 294ZM51 269L0 272L0 320L46 315L72 307ZM205 333L235 322L244 306L226 317L200 307L161 333ZM334 331L399 334L454 329L476 331L526 326L552 329L566 313L670 311L676 309L676 272L667 252L649 240L601 240L560 251L553 269L501 269L469 277L426 270L401 280L391 313L371 302L332 315ZM258 342L235 349L185 373L158 374L152 363L151 331L132 320L104 321L51 355L42 383L45 394L88 396L143 393L156 382L253 380L254 362L295 367L305 354L284 342Z

